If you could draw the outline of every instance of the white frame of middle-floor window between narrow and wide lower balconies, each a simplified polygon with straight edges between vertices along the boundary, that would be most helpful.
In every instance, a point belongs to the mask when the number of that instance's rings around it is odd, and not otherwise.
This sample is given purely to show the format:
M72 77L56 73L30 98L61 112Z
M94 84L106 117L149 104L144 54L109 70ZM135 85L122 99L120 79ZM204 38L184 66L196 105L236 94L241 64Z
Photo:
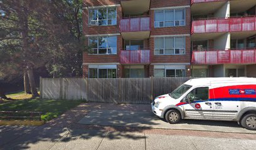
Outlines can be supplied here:
M183 48L176 48L175 42L176 42L176 38L177 38L177 37L183 37L183 38L184 38L184 53L181 53L181 49L183 49ZM154 48L154 55L184 55L184 54L186 54L186 37L185 37L185 36L176 36L176 37L155 37L155 38L154 38L154 41L155 41L156 39L159 39L159 38L163 38L163 39L164 39L164 45L163 45L163 51L164 51L164 53L163 53L163 54L159 54L159 50L160 50L160 49L155 49L155 48ZM165 47L165 38L173 38L174 54L165 54L165 48L164 48L164 47ZM176 53L175 53L176 49L179 49L179 54L176 54ZM158 54L155 53L156 50L158 50Z

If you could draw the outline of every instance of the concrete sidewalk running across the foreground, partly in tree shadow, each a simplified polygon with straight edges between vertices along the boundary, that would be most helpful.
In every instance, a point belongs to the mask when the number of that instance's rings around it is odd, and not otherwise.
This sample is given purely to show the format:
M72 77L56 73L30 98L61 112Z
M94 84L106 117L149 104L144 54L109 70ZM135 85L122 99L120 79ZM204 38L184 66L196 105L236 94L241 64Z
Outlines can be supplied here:
M112 132L46 127L4 127L0 149L255 149L255 135L245 139L209 138L152 134L149 132ZM3 129L3 126L1 126ZM13 132L13 130L16 130ZM17 135L16 133L19 133ZM6 139L4 142L3 139ZM253 139L253 140L252 140Z

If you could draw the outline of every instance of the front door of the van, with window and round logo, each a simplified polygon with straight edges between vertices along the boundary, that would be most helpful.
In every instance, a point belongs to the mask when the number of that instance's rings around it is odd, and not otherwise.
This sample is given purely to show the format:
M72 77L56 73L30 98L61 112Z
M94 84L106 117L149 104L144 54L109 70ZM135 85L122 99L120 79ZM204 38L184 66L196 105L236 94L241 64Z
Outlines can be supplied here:
M186 119L212 119L213 103L208 101L208 86L193 89L185 99L189 101L183 106Z

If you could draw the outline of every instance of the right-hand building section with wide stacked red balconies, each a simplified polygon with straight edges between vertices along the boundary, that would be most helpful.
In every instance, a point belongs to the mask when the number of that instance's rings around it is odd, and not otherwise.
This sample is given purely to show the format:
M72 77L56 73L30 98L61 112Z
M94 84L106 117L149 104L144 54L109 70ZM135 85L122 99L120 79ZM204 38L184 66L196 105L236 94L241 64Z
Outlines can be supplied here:
M191 74L256 77L256 1L191 1Z

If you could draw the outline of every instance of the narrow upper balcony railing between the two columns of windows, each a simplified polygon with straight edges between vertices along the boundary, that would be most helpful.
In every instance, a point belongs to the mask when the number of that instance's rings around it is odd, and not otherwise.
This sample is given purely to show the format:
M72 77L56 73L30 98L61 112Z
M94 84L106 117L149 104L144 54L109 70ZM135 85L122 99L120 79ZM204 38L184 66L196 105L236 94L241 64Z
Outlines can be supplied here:
M120 19L120 32L150 31L150 17L124 17Z

